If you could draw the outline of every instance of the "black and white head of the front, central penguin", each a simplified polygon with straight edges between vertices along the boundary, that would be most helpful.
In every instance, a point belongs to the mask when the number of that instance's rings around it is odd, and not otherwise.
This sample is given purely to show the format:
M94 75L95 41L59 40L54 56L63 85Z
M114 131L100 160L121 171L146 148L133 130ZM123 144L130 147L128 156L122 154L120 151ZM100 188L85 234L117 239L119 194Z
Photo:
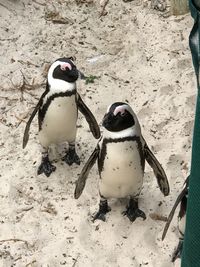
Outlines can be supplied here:
M131 128L134 130L134 134L140 134L137 116L132 108L123 102L115 102L108 107L102 125L109 132L121 132Z

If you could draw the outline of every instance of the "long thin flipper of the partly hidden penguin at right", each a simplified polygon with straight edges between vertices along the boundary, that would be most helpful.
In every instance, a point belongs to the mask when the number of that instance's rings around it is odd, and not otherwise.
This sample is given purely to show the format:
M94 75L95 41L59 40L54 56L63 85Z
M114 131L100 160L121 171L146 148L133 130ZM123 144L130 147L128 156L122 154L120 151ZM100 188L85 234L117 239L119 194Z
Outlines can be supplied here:
M168 230L168 228L169 228L169 226L170 226L170 223L171 223L171 221L172 221L172 219L173 219L173 217L174 217L174 213L175 213L175 210L176 210L176 208L177 208L177 206L178 206L178 204L182 201L182 199L183 199L183 197L187 194L187 192L188 192L188 184L189 184L189 177L190 176L188 176L187 177L187 179L185 180L185 187L183 188L183 190L180 192L180 194L178 195L178 197L177 197L177 199L176 199L176 201L175 201L175 203L174 203L174 206L172 207L172 210L171 210L171 212L170 212L170 214L169 214L169 216L168 216L168 218L167 218L167 222L166 222L166 224L165 224L165 228L164 228L164 230L163 230L163 234L162 234L162 240L164 240L164 238L165 238L165 236L166 236L166 234L167 234L167 230Z

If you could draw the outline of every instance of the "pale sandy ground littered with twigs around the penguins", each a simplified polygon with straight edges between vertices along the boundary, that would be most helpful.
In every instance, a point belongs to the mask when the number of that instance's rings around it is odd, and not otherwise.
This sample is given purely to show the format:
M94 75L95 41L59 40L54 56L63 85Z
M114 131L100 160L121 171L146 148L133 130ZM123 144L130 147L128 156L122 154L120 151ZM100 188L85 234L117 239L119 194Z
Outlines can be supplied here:
M180 265L170 263L177 217L161 241L165 223L150 215L169 214L189 173L196 99L188 47L192 19L165 18L149 1L110 0L106 11L99 18L100 3L92 0L0 2L0 266ZM80 114L80 166L63 164L63 146L54 147L56 172L37 176L37 118L22 149L25 122L44 91L49 63L71 55L81 71L98 77L77 84L97 121L101 124L111 103L128 101L167 173L171 193L164 197L146 167L139 198L145 221L130 223L121 215L126 202L112 200L107 221L92 222L99 202L96 166L82 196L73 198L78 174L96 145Z

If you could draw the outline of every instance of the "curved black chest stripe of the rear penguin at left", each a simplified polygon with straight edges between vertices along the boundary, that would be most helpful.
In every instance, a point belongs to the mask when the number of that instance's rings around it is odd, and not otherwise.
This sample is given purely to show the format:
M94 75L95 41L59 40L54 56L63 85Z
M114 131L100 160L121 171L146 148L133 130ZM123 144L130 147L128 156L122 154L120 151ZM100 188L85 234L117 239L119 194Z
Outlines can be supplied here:
M51 95L50 97L48 97L46 103L44 105L42 103L42 105L39 109L39 112L38 112L39 130L41 130L41 128L42 128L42 122L44 120L45 114L46 114L51 102L57 97L66 97L66 96L70 97L70 96L75 95L75 94L76 94L76 89L74 89L72 91L55 93L55 94Z

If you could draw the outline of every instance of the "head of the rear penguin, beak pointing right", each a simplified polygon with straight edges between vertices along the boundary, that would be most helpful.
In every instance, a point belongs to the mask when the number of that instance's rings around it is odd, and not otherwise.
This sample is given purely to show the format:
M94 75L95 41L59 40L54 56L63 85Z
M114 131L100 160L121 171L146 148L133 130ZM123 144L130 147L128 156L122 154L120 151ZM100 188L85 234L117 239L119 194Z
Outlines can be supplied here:
M58 58L49 68L48 80L58 79L68 83L75 83L84 75L76 68L73 57Z

